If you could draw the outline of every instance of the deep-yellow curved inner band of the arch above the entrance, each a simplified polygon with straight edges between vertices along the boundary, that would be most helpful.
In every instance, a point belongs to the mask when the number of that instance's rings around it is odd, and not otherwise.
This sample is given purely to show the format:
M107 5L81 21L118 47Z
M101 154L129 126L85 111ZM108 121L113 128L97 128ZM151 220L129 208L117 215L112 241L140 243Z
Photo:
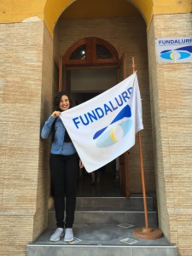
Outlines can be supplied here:
M77 1L77 0L76 0ZM153 12L153 1L148 0L148 4L144 4L143 0L130 0L127 2L132 3L143 15L143 19L145 20L147 26L150 23L152 12ZM53 37L53 32L55 28L55 24L59 19L61 13L67 9L69 5L74 3L75 0L47 0L44 6L44 23L47 26L51 37Z

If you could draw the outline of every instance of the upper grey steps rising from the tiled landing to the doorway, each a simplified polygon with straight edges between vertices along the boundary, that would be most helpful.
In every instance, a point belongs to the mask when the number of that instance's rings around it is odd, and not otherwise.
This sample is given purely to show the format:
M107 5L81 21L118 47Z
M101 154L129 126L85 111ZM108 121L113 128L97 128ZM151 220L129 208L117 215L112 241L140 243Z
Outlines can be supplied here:
M153 198L147 197L148 223L157 224ZM75 223L86 224L145 224L143 197L78 197ZM55 211L49 210L48 228L55 228Z

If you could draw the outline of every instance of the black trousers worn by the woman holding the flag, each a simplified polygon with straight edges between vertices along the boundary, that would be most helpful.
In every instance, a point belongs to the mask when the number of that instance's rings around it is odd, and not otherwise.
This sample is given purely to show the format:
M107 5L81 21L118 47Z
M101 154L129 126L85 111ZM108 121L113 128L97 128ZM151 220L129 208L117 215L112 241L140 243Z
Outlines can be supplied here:
M76 187L79 176L78 154L50 154L51 182L55 200L55 218L58 228L72 228L76 206Z

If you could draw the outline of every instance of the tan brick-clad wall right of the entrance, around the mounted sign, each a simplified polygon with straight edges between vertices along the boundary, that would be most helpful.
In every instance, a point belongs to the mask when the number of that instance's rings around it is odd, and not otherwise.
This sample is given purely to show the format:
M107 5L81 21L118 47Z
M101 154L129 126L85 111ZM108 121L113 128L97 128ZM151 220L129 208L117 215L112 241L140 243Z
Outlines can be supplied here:
M148 32L154 166L160 228L192 254L192 63L157 64L155 38L191 36L191 15L155 15Z

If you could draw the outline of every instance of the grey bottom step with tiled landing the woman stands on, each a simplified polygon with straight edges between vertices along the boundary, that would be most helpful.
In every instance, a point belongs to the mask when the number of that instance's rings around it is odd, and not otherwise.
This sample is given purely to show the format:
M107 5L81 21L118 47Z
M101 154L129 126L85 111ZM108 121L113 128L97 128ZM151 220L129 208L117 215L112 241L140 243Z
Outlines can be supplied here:
M155 240L134 237L133 230L137 227L131 224L74 224L72 243L63 238L51 242L49 236L54 230L46 230L37 241L27 245L27 256L177 256L177 247L164 236Z

